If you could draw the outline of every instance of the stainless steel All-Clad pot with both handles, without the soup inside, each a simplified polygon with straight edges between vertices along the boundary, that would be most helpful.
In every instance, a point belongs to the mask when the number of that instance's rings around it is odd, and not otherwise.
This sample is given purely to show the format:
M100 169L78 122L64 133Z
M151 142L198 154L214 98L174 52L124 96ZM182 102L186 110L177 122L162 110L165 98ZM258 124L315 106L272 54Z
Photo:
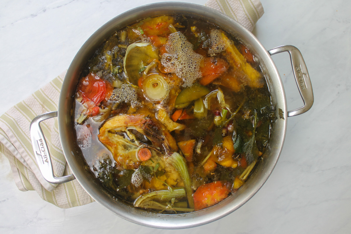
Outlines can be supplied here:
M122 201L116 200L110 192L97 182L93 174L86 169L84 158L76 143L74 120L72 117L74 113L75 89L81 78L81 71L86 66L87 60L91 58L97 47L120 28L143 18L163 14L183 14L201 18L220 26L226 32L236 36L249 47L250 51L259 59L260 66L266 75L273 105L277 107L277 116L279 116L279 109L283 111L283 115L274 122L269 145L267 146L263 160L258 163L256 170L247 182L235 194L217 205L187 214L155 214L136 209ZM285 51L290 54L297 87L304 101L303 107L293 111L287 111L282 80L271 58L271 55ZM35 142L38 140L45 142L39 122L58 116L62 149L73 175L57 178L53 174L51 160L47 160L47 162L42 159L37 160L40 170L48 182L64 183L75 178L86 192L95 201L100 203L101 206L125 220L140 225L164 229L190 228L210 223L232 213L256 194L266 182L278 161L285 139L287 117L299 115L308 111L312 104L313 92L311 81L302 55L296 47L279 46L267 51L250 31L237 21L214 9L182 2L161 2L137 7L118 15L99 28L85 42L68 68L60 93L58 111L37 116L31 124L31 138L32 142L34 142L34 152L38 151L39 149L36 148L38 145ZM45 150L48 152L47 147ZM48 153L47 155L49 156Z

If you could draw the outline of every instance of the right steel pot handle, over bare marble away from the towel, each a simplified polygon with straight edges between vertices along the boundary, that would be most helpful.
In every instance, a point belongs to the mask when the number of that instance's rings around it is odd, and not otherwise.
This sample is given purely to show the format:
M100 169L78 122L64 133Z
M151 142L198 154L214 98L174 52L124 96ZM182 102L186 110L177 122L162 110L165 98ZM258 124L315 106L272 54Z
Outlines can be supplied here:
M278 46L268 51L270 55L282 52L289 52L292 71L294 72L297 87L299 89L304 106L287 112L287 116L296 116L308 111L313 105L313 91L310 76L307 71L306 63L298 48L291 45Z

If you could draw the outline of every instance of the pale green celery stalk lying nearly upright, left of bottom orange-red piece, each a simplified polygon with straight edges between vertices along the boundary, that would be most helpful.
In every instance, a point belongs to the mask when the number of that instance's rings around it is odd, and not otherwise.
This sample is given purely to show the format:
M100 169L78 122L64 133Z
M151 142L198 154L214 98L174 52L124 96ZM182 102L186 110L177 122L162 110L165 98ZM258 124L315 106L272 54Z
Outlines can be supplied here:
M193 190L191 188L191 180L184 157L181 156L179 153L174 152L171 156L167 158L167 161L179 172L180 177L183 179L189 207L194 208L194 199L192 196Z

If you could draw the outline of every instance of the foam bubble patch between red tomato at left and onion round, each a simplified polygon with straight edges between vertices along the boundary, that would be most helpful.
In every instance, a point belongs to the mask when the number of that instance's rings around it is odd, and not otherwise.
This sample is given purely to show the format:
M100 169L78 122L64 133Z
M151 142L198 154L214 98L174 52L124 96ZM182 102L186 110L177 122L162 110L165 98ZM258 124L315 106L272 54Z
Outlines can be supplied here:
M137 91L128 84L122 84L120 88L113 89L110 100L131 103L133 106L140 104Z

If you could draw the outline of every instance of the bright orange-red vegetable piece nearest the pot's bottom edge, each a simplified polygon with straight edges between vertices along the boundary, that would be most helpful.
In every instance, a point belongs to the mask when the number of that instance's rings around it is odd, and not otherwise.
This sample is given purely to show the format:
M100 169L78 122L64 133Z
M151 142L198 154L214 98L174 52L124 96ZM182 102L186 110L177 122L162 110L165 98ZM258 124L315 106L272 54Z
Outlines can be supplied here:
M193 194L195 210L204 209L228 197L229 189L221 181L201 185Z

